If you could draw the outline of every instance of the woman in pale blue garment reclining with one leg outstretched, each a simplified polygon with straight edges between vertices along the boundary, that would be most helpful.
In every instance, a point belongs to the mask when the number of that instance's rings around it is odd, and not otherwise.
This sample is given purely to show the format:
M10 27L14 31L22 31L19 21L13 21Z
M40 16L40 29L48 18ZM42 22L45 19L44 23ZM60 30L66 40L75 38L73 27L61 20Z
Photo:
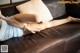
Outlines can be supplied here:
M29 34L30 32L39 32L43 29L55 27L71 21L80 21L78 18L69 16L68 18L61 20L38 23L36 22L35 14L16 14L6 18L1 13L0 19L0 41L4 41L12 37L21 37L22 35Z

